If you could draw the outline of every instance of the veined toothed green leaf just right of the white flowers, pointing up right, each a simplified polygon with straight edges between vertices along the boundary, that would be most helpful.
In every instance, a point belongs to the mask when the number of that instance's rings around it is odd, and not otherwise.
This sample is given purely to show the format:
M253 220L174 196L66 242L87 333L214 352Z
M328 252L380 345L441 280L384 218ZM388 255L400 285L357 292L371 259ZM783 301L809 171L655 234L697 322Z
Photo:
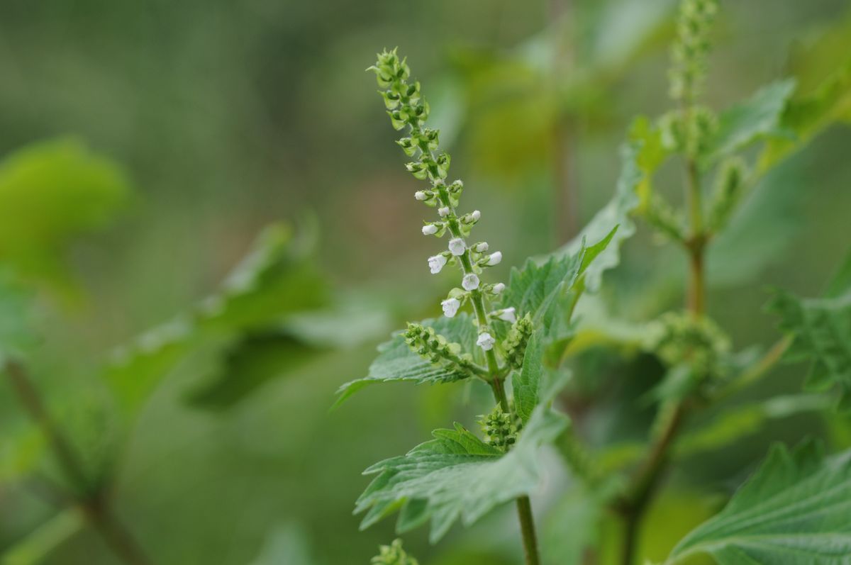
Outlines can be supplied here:
M523 270L512 268L508 288L505 288L500 303L514 306L521 316L531 314L534 321L540 323L544 335L548 336L557 321L559 299L576 288L581 277L593 268L597 257L605 252L617 231L618 225L610 225L608 232L591 246L586 246L583 238L573 254L552 255L541 265L530 259L523 265Z

